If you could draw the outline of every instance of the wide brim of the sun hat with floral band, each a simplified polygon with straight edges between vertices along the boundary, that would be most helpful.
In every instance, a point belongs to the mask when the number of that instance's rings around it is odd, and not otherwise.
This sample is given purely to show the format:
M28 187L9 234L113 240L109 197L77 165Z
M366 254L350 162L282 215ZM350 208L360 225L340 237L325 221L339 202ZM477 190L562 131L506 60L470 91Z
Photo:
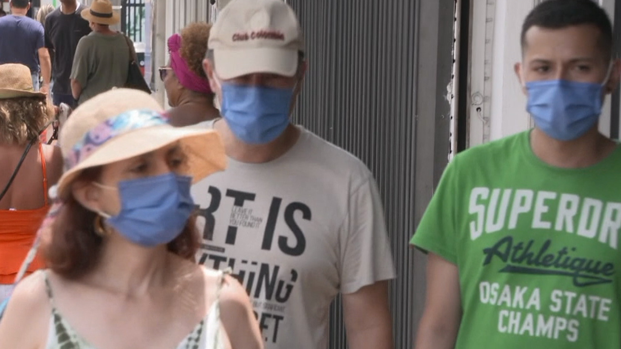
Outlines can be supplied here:
M66 197L70 184L87 168L127 160L178 141L188 156L187 174L192 176L193 183L227 167L224 145L215 130L171 125L147 127L112 138L84 161L63 173L58 180L58 197Z

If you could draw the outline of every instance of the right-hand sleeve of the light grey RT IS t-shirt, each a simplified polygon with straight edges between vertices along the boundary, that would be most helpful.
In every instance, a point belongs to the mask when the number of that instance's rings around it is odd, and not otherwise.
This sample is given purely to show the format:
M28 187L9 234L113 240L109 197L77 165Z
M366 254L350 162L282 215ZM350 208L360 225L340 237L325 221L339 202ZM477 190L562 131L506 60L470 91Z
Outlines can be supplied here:
M371 176L350 194L347 217L340 231L340 291L353 293L395 277L384 209Z

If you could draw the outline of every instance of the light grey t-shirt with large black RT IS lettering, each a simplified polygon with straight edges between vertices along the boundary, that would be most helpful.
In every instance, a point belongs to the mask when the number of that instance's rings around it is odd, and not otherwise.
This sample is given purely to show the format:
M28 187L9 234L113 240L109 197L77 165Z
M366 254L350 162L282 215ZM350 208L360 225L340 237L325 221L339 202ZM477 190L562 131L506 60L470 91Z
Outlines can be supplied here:
M192 188L202 233L197 260L232 268L253 302L266 349L326 348L338 292L395 276L372 174L350 153L300 129L280 158L229 158L227 170Z

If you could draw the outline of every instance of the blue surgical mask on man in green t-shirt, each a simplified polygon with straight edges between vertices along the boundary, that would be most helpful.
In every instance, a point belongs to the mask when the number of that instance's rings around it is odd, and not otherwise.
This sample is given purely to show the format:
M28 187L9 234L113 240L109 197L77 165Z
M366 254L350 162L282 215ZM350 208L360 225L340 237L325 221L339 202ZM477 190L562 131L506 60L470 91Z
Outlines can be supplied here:
M556 140L569 141L584 135L602 114L604 83L543 80L526 83L527 111L537 128Z

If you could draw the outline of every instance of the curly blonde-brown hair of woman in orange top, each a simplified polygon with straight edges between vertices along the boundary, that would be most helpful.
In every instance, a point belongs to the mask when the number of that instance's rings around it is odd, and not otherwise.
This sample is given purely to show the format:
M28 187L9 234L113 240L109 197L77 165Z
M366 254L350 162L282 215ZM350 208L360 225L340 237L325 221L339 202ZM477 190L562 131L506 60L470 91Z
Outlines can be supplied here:
M0 99L0 142L28 143L52 119L52 108L44 96Z

